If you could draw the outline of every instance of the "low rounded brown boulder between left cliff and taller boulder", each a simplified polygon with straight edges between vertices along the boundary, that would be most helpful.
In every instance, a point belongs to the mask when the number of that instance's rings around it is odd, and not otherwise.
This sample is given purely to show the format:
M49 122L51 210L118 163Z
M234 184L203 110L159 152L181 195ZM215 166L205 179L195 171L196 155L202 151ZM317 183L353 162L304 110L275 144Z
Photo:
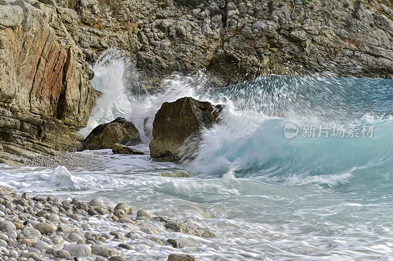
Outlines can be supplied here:
M112 149L116 143L131 146L140 142L139 131L134 124L118 117L95 127L84 139L84 150Z

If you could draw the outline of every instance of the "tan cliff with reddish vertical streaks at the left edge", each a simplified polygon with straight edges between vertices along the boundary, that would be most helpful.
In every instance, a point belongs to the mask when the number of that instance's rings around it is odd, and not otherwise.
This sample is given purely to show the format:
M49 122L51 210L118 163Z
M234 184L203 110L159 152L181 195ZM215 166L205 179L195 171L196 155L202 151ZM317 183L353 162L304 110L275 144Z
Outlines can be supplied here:
M80 150L92 71L67 30L74 10L0 1L0 163ZM17 156L15 156L17 155Z

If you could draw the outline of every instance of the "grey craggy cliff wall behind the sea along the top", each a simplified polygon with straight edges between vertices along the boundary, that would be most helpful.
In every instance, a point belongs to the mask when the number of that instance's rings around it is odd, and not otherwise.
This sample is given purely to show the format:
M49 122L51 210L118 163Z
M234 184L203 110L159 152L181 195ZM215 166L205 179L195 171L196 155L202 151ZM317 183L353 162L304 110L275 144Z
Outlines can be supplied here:
M389 0L62 0L89 60L114 46L145 71L393 77Z

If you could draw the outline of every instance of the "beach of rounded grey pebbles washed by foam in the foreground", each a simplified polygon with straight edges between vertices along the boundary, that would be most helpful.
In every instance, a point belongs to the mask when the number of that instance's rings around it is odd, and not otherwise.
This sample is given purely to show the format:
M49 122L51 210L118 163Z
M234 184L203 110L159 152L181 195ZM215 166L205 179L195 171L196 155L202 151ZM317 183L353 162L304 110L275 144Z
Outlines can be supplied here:
M106 206L99 199L30 197L1 186L0 204L0 258L8 261L125 261L157 245L166 247L168 261L195 261L181 251L187 242L176 239L176 234L214 236L190 220L151 216L126 203ZM173 237L160 235L163 230Z

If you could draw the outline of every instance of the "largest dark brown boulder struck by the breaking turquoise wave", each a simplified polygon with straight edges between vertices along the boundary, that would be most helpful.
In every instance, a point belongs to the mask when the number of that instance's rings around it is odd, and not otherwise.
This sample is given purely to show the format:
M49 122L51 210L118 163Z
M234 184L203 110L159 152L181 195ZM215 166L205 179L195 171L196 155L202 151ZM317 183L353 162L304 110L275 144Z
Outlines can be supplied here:
M203 128L220 122L223 105L200 102L191 97L164 103L153 121L150 157L156 161L178 161L184 141Z

